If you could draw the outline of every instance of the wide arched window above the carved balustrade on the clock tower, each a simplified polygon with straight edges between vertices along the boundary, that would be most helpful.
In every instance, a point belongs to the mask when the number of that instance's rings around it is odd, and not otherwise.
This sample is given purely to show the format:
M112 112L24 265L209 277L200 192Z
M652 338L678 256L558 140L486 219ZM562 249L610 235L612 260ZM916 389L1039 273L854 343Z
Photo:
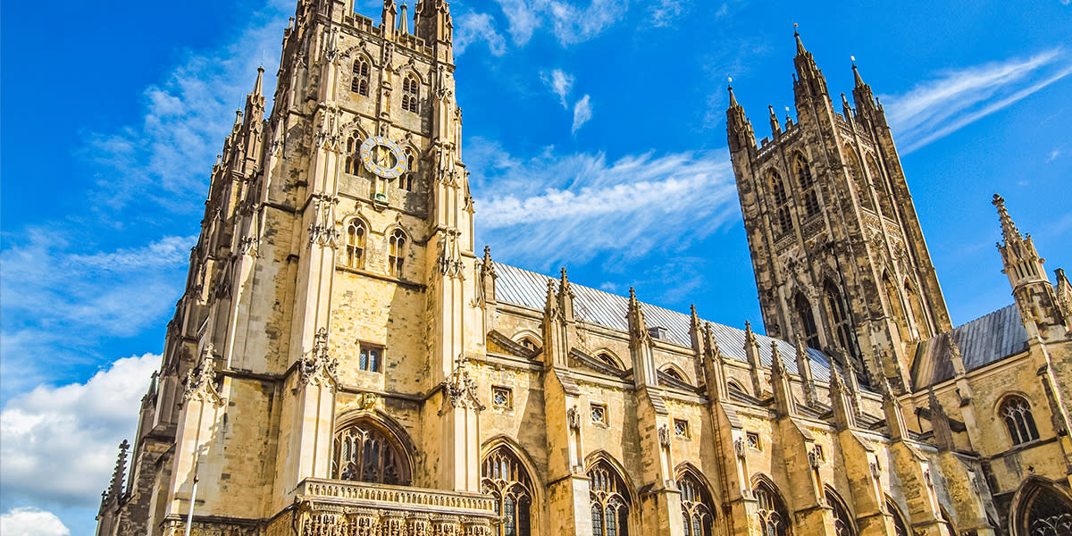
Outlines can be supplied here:
M331 473L341 480L410 485L408 459L392 434L372 419L358 419L336 433Z

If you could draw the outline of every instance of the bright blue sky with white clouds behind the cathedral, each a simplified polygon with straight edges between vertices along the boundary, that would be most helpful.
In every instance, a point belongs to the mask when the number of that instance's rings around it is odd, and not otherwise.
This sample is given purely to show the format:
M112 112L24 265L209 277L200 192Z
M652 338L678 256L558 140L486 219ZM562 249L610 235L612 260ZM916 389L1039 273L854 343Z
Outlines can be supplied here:
M88 535L208 172L294 5L48 8L5 2L0 19L0 519L4 534ZM885 105L954 324L1012 301L995 192L1047 268L1072 268L1068 0L451 9L478 241L496 260L759 325L725 86L769 135L766 106L792 106L796 23L835 98L854 55Z

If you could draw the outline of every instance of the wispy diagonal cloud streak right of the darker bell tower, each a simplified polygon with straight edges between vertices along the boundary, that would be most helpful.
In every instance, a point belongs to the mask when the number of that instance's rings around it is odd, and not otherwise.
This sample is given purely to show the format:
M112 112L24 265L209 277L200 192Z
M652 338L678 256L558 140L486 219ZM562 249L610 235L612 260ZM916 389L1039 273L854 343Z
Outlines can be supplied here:
M907 93L883 95L902 153L909 153L1072 74L1060 48L940 73Z

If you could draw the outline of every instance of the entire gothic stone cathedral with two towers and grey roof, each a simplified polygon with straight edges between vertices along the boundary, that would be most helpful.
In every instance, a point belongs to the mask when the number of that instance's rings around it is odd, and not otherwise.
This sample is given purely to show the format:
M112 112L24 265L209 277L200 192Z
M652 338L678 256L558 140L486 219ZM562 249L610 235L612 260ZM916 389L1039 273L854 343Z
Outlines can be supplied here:
M729 89L764 336L493 260L449 5L381 17L258 72L98 536L1072 534L1072 285L995 195L1013 302L953 327L859 72L798 35L759 142Z

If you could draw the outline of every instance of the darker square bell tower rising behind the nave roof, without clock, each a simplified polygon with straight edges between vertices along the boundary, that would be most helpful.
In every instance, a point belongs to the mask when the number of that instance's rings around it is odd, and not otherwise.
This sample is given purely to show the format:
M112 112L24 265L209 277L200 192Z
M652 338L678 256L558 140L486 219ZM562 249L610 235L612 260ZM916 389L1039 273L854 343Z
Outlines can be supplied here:
M951 326L900 160L855 64L854 106L843 93L837 110L794 39L796 120L770 107L757 145L732 87L726 111L763 322L906 389L915 343Z

